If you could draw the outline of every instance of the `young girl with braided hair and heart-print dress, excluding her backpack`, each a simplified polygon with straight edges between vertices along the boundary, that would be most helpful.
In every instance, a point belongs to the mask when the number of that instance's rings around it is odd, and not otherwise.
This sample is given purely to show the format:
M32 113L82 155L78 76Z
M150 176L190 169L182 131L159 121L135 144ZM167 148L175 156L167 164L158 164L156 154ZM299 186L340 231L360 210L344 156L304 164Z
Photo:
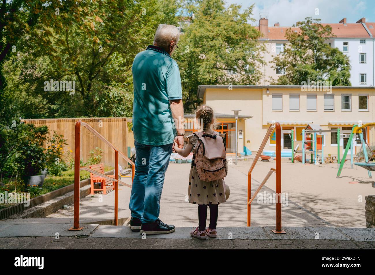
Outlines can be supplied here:
M198 106L196 109L196 120L203 122L203 133L205 135L225 137L224 134L219 134L213 131L214 114L211 107L207 105ZM187 195L191 204L198 204L198 220L199 226L190 232L190 235L198 239L207 239L216 237L216 222L219 214L218 205L226 202L225 199L225 183L222 179L213 181L199 180L198 172L194 164L196 150L199 144L199 138L195 135L189 135L189 141L185 149L180 149L177 143L174 144L174 150L181 156L187 157L191 150L193 150L194 158L189 175L189 189ZM207 219L207 205L210 207L210 225L206 228Z

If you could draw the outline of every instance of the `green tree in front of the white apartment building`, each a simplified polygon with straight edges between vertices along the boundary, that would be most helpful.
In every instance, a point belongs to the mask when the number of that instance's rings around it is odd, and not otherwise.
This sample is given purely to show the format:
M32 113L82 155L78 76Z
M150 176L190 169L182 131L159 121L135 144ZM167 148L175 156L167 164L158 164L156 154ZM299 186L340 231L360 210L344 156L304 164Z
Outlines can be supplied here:
M320 19L305 18L286 31L290 44L284 52L275 56L273 68L284 68L285 74L272 84L302 85L310 81L332 81L333 86L350 86L350 60L338 48L326 43L334 37L329 25L323 26Z

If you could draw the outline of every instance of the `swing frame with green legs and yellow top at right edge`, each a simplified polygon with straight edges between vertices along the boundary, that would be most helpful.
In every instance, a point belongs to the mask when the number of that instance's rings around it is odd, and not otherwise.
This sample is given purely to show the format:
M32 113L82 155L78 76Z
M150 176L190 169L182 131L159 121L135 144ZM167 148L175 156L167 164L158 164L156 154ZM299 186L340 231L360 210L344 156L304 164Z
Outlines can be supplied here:
M369 178L372 178L371 171L375 171L375 162L374 162L375 152L374 152L374 150L371 149L368 142L363 138L363 131L364 131L364 129L366 129L366 127L369 127L369 126L375 126L375 123L367 123L367 124L364 124L364 125L354 125L353 126L353 128L351 130L351 134L349 136L347 146L345 148L344 155L342 156L342 160L340 162L339 171L337 172L337 178L340 177L342 168L343 168L344 163L345 163L345 158L348 154L348 150L351 147L353 147L353 137L354 137L354 135L357 135L357 134L359 135L359 140L361 141L361 149L360 149L359 155L361 154L361 152L363 150L363 156L365 157L365 162L355 162L354 165L357 165L357 166L360 166L360 167L363 167L363 168L367 169ZM368 149L371 152L370 158L367 155L366 146L368 147ZM353 152L353 148L352 148L351 152Z

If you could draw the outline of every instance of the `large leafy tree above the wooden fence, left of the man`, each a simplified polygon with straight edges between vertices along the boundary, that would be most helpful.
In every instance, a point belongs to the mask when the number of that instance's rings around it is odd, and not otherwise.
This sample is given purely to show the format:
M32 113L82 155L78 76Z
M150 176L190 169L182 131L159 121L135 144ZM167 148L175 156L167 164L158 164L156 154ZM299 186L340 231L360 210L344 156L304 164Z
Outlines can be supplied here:
M76 3L76 2L74 2ZM5 64L16 98L8 111L27 117L131 116L134 56L153 41L160 23L175 24L178 3L94 0L42 11ZM44 6L43 6L44 9ZM51 9L50 9L51 11ZM15 75L17 73L17 75ZM71 91L45 91L45 82L72 81ZM30 108L33 104L33 108ZM25 106L30 110L29 113ZM41 110L39 106L43 106ZM18 111L18 114L16 112Z

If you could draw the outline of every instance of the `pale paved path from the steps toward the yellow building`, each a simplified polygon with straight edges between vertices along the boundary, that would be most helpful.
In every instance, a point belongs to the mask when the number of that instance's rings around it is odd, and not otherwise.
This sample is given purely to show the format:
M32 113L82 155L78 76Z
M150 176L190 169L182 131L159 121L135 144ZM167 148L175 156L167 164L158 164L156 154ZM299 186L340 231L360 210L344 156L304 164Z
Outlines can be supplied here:
M249 162L239 163L242 169L249 166ZM160 202L160 219L175 226L195 226L198 220L198 208L196 205L186 202L189 164L170 164L166 173ZM265 175L265 174L264 174ZM259 173L253 178L252 191L255 192L264 177ZM125 180L124 180L125 181ZM126 179L126 182L129 179ZM218 226L246 226L246 197L247 197L247 174L236 165L231 165L226 184L230 187L231 195L228 202L219 207ZM274 183L275 175L270 180ZM264 186L261 192L267 194L275 191ZM130 188L121 186L119 189L119 212L118 217L127 218L129 211ZM107 195L89 195L81 199L80 217L96 220L113 219L114 215L114 192ZM275 204L257 203L252 204L252 226L275 226ZM50 218L64 218L71 220L73 217L73 205L70 209L59 210L49 216ZM320 219L311 211L296 204L293 199L288 198L288 206L282 207L283 226L329 226L330 224Z

